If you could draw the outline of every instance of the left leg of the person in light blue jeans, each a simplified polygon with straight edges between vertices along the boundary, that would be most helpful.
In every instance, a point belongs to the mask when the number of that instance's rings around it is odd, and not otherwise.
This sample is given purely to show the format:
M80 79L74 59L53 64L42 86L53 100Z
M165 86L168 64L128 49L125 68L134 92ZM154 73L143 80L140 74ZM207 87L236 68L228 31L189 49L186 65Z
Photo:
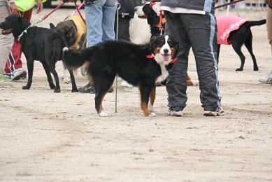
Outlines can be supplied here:
M93 4L85 6L87 47L102 41L102 6L105 2L106 0L97 0Z

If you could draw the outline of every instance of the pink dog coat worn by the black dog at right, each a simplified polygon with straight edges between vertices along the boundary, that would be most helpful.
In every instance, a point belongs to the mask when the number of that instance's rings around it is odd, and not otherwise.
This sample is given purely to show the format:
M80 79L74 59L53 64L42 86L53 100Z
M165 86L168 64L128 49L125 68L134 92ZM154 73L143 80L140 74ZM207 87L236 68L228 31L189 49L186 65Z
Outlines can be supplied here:
M233 15L217 16L217 44L231 44L228 40L231 31L239 29L248 20Z

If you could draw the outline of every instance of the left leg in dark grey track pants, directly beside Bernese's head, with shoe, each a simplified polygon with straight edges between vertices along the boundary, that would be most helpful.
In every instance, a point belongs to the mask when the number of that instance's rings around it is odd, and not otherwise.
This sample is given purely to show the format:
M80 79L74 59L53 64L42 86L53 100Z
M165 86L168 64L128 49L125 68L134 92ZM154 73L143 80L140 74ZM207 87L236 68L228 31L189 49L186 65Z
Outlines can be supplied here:
M176 38L179 43L178 61L173 64L169 70L169 76L166 80L166 90L168 92L168 107L171 111L182 111L187 102L187 67L188 55L191 47L185 27L180 21L180 14L165 13L166 16L166 34ZM173 112L172 112L173 113ZM176 113L172 116L178 116ZM180 115L182 116L182 114Z

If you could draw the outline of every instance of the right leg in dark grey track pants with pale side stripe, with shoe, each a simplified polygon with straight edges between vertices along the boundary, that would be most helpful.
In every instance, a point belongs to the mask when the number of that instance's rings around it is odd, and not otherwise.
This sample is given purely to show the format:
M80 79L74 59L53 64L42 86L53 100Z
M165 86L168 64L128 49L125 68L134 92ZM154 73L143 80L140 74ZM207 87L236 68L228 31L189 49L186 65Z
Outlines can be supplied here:
M217 25L215 15L184 14L180 16L189 36L196 70L199 76L202 107L210 114L217 115L221 109L217 73ZM206 114L208 116L208 114Z

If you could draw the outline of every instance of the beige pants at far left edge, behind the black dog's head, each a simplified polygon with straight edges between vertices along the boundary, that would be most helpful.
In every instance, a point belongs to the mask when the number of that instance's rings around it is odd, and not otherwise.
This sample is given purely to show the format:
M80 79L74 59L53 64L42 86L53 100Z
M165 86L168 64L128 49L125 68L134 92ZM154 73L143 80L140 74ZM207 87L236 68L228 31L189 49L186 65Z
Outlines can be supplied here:
M0 22L5 21L9 14L8 6L0 6ZM13 46L13 41L13 34L0 34L0 73L5 73L6 60Z

